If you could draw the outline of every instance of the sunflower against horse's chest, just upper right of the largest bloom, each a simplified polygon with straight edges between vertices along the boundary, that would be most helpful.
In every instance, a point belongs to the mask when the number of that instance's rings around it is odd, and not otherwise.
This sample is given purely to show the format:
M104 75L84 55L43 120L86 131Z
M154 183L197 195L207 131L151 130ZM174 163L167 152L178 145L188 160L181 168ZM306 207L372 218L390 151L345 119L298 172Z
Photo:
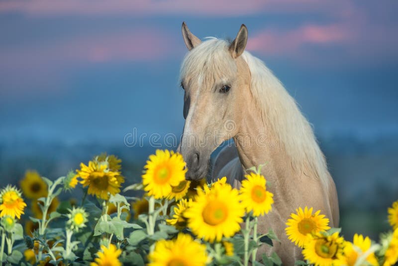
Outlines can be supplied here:
M246 212L253 211L254 216L264 215L272 210L274 194L266 190L266 180L263 175L250 173L242 181L240 198Z

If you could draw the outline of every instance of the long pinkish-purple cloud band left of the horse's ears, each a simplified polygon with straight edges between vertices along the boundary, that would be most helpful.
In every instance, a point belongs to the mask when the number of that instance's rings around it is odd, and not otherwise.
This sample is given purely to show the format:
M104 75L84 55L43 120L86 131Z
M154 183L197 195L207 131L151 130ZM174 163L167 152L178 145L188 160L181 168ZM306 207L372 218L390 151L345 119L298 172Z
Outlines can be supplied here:
M79 36L0 50L2 85L6 82L18 88L5 89L6 94L33 93L30 84L46 81L58 84L67 80L68 69L90 67L109 62L145 63L162 61L176 55L181 43L175 43L167 33L152 28L132 29L107 35ZM40 83L40 82L39 82ZM24 85L24 86L22 86ZM24 91L27 90L27 91ZM62 90L43 86L36 90Z

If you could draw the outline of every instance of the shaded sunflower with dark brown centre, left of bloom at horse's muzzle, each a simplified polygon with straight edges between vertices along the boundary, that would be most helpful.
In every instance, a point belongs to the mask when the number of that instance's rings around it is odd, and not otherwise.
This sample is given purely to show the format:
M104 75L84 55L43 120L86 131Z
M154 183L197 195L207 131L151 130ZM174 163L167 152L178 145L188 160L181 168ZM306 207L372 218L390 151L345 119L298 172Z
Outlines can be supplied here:
M119 193L121 183L124 183L124 177L117 170L118 164L111 165L107 159L109 156L104 160L97 156L93 161L89 161L89 165L81 163L81 169L77 170L83 179L80 183L83 187L89 187L88 193L104 200L109 199L109 193L111 195Z

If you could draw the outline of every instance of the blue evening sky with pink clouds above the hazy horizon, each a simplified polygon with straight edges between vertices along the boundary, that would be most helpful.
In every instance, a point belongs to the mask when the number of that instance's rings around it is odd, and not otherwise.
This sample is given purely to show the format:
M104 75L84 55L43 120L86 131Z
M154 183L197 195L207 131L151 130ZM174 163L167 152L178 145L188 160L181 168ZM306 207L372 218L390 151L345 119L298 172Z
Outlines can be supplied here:
M186 21L249 30L319 136L398 134L398 2L0 2L0 139L112 141L182 131Z

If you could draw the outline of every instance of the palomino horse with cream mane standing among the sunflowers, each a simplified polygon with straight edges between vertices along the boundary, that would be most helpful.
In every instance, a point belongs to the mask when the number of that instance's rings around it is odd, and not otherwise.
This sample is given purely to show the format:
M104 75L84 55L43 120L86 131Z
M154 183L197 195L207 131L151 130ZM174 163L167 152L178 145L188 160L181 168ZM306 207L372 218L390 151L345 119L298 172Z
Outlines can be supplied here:
M234 145L221 150L211 178L225 175L239 188L247 169L265 164L261 173L274 205L259 218L258 230L271 228L280 242L258 255L275 251L284 265L294 265L302 257L285 233L291 213L313 207L329 218L330 227L339 223L336 187L312 128L282 83L245 51L244 24L231 42L201 41L185 22L182 34L189 51L180 70L185 125L178 150L187 163L186 179L203 178L211 153L228 139Z

